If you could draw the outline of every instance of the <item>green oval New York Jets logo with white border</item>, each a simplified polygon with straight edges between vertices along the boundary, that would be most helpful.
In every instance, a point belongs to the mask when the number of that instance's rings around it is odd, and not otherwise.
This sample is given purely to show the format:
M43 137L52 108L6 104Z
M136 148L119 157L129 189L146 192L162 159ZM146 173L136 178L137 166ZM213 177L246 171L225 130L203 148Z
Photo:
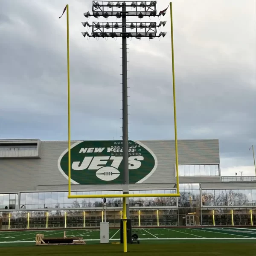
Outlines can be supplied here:
M71 145L73 184L122 184L122 141L80 141ZM68 179L68 149L58 159ZM157 157L140 141L129 141L129 183L142 183L157 169Z

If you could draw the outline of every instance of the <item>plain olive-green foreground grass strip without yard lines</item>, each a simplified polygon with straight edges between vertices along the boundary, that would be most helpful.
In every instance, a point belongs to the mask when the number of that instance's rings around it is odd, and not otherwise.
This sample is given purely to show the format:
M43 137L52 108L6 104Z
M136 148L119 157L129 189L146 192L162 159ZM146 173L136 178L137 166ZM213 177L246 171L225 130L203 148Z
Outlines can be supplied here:
M4 256L255 256L255 243L170 243L128 244L128 253L122 252L122 244L86 244L59 246L2 247Z

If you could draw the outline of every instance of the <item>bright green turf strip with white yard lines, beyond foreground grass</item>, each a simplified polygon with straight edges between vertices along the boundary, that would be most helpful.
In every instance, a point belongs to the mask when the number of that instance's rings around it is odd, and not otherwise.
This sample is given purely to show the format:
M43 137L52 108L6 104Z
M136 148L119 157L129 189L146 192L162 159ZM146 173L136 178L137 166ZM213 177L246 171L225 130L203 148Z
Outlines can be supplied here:
M34 243L38 233L49 237L63 237L64 230L25 230L25 231L2 231L0 232L0 245L15 243ZM135 228L133 233L137 233L140 240L250 240L256 239L256 229L252 228ZM100 240L100 230L94 229L68 229L67 237L81 236L84 241L96 242ZM119 229L109 230L110 241L120 239ZM255 241L256 242L256 241Z

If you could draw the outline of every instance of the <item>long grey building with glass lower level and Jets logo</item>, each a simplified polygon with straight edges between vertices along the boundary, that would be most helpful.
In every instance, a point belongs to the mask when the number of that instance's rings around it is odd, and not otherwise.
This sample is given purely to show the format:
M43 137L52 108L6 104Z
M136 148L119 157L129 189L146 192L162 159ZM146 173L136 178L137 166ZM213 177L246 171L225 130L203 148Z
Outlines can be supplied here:
M122 194L122 142L72 141L73 195ZM102 198L68 199L67 141L0 140L0 229L99 227ZM134 227L256 225L256 179L222 177L218 140L179 140L179 198L130 198ZM176 193L175 142L129 141L129 193ZM107 198L119 227L122 198Z

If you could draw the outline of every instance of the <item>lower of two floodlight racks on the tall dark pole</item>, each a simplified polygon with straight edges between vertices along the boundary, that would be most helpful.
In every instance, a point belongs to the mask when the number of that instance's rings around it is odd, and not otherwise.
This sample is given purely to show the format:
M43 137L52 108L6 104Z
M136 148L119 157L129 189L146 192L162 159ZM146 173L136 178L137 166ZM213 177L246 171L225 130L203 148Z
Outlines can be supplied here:
M165 36L166 32L160 32L157 35L157 29L160 29L161 26L165 26L166 21L160 21L159 24L156 22L127 22L124 26L122 22L94 22L89 24L88 22L82 22L84 27L92 28L91 35L89 32L82 32L84 37L93 37L93 38L117 38L125 36L126 38L137 38L141 39L143 37L148 37L153 39L155 37L160 38Z

